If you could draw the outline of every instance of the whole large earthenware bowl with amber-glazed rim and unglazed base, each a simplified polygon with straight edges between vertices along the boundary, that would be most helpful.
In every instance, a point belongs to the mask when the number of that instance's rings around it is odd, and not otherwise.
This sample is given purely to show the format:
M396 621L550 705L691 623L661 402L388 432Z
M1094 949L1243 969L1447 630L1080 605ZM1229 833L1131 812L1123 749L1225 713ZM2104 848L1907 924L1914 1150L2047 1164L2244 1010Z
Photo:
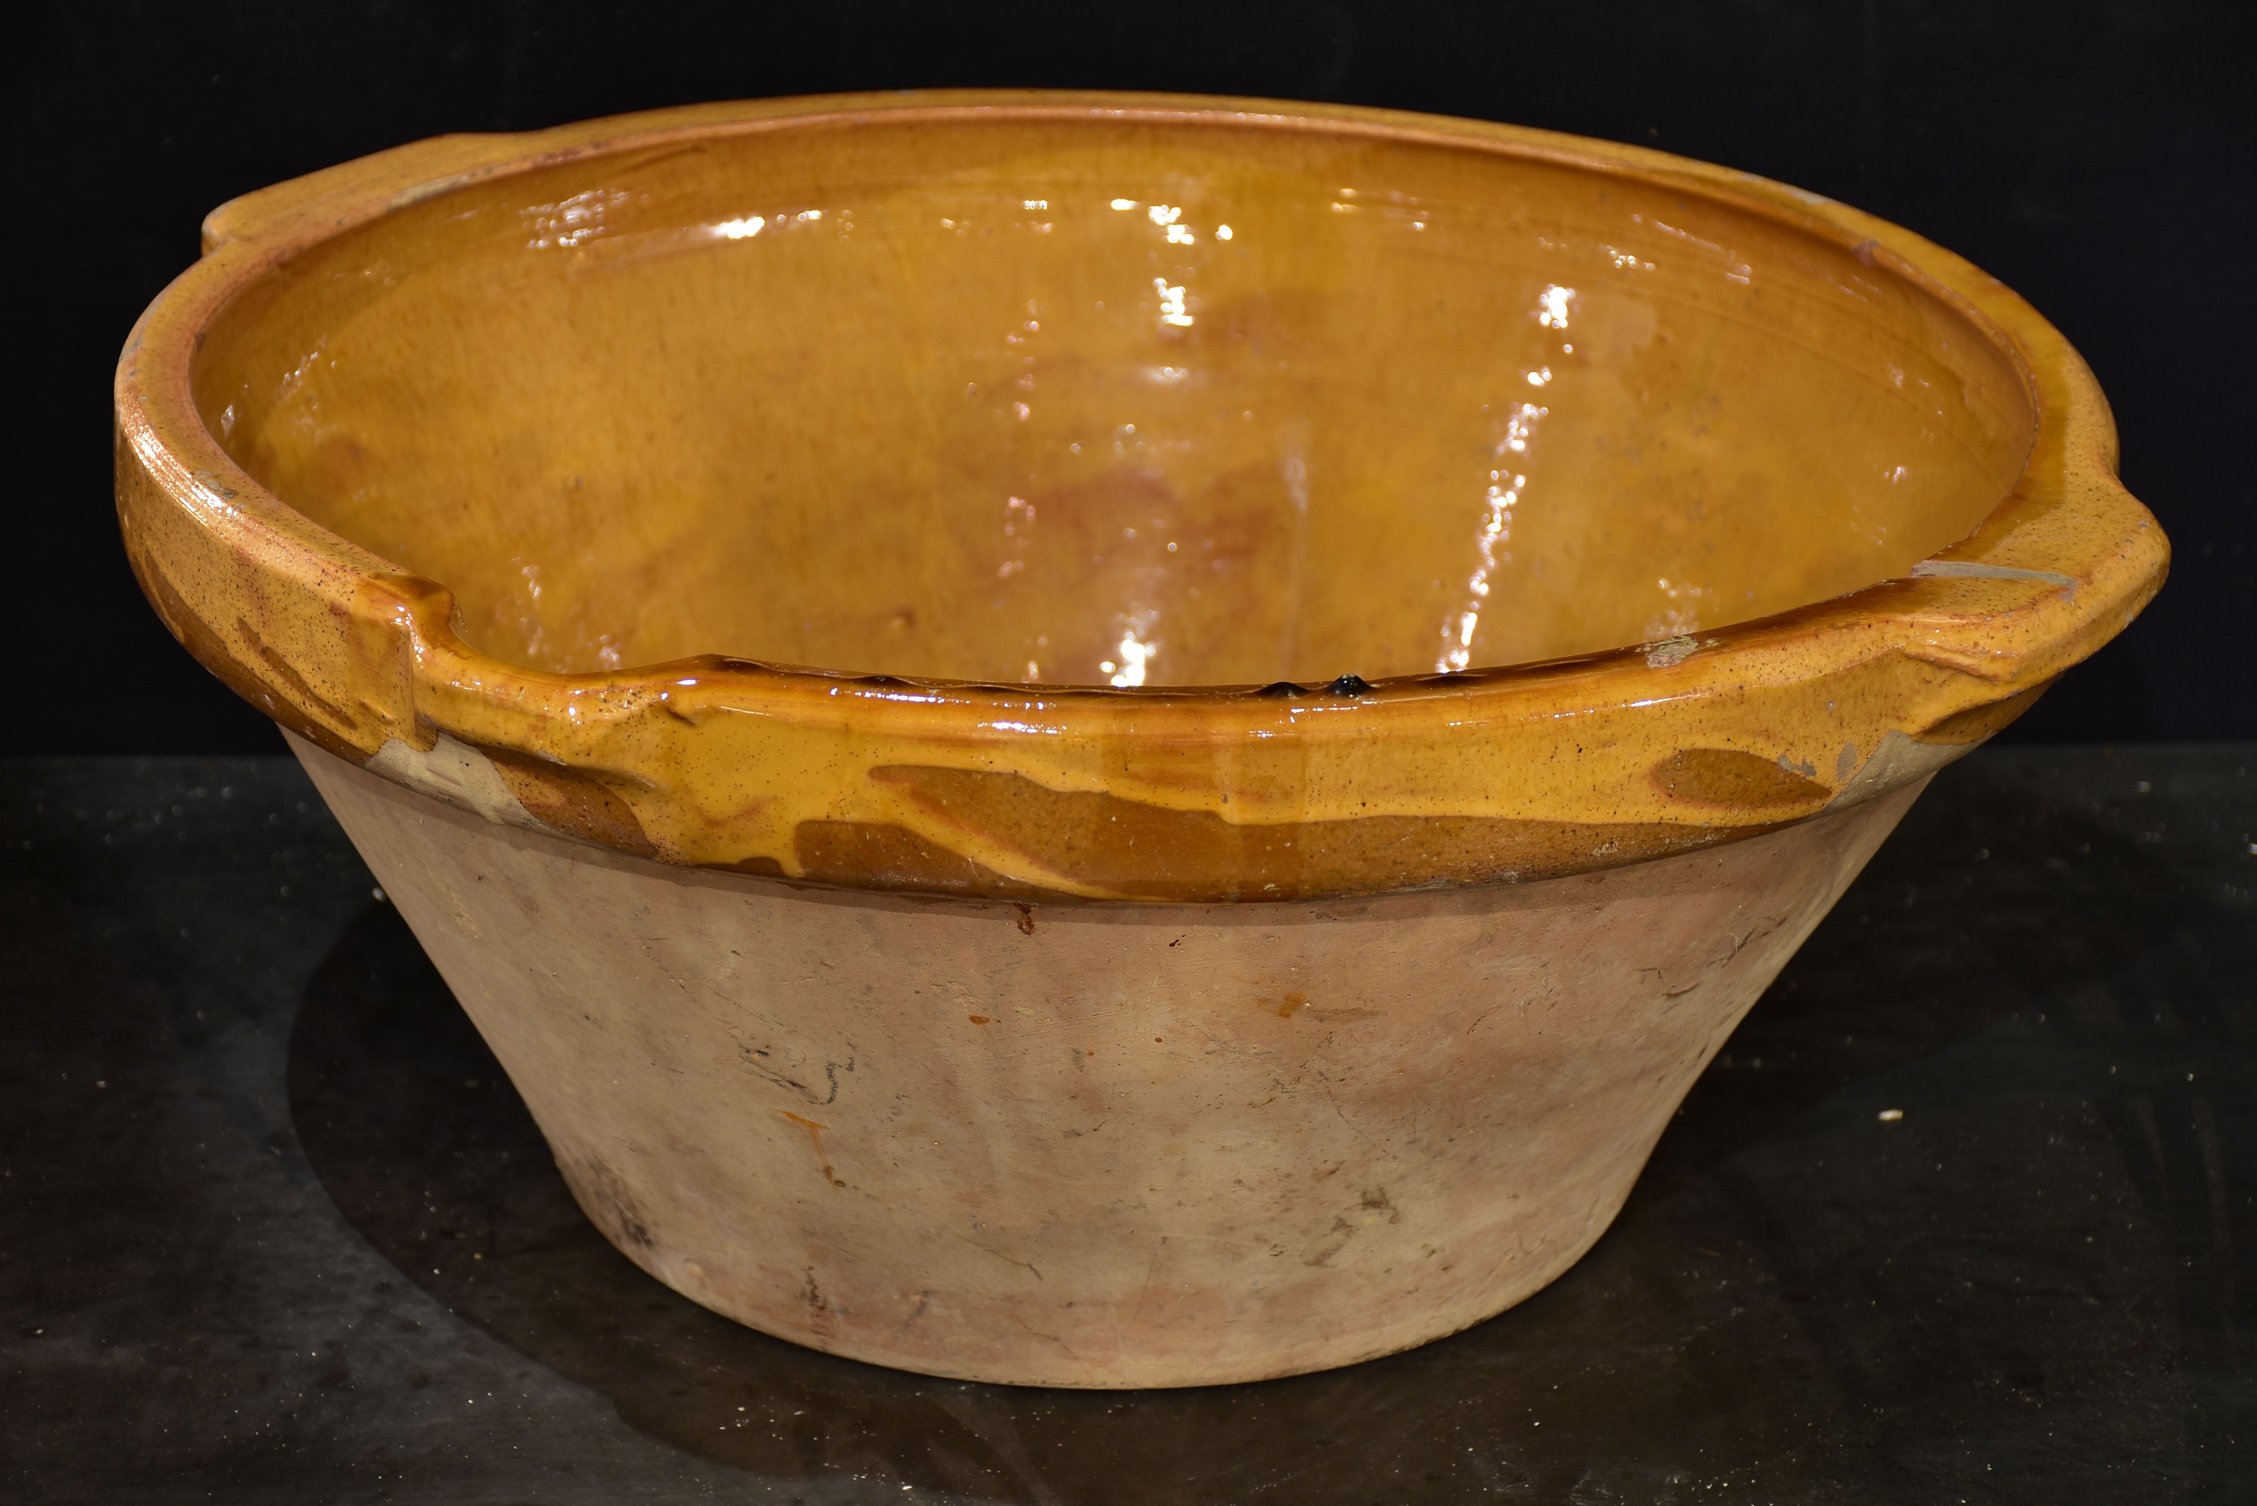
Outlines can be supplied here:
M1061 1386L1553 1280L2167 560L2067 343L1896 226L1110 95L228 203L126 345L117 504L618 1249Z

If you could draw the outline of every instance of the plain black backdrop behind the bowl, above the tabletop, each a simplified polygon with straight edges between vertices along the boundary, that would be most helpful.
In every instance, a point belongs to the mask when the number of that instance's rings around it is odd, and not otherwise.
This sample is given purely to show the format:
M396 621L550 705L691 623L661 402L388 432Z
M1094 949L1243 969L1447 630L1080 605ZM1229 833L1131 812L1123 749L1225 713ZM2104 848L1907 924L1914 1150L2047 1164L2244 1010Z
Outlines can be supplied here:
M25 0L18 0L25 2ZM2257 5L34 0L0 23L18 395L0 752L253 752L108 504L126 327L214 203L440 131L849 88L1341 99L1659 145L1896 219L2083 350L2171 583L2009 736L2257 736Z

